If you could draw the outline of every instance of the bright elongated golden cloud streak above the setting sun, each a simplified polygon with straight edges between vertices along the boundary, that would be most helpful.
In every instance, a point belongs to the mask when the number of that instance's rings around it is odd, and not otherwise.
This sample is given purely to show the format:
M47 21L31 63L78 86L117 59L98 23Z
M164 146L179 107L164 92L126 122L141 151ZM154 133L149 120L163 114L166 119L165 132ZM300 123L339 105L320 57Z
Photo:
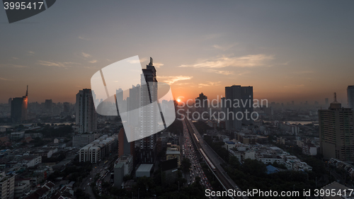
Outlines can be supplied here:
M207 69L220 69L224 67L261 67L273 60L273 55L246 55L243 57L219 57L216 59L206 59L196 64L182 64L179 67L194 67Z

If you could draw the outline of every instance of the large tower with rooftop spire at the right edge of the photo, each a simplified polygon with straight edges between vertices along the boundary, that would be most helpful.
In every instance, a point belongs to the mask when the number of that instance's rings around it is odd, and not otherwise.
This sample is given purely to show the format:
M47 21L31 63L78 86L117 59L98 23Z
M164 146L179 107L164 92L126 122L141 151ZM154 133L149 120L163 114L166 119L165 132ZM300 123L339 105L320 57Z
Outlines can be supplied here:
M319 141L325 159L354 161L353 110L336 97L328 110L319 110Z

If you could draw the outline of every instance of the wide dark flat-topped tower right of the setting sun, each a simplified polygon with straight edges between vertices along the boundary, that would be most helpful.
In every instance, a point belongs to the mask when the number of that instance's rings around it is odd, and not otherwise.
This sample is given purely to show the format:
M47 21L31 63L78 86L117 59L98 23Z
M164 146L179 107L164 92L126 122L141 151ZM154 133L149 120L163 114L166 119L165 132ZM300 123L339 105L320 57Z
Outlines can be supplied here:
M223 106L226 107L227 130L241 130L243 125L253 124L253 86L225 87Z

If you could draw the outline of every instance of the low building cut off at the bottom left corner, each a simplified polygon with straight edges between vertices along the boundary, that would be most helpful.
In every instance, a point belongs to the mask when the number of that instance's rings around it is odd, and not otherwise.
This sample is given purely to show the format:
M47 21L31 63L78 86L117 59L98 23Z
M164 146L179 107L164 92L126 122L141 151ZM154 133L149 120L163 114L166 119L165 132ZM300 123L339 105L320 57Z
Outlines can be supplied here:
M0 199L13 199L15 195L15 176L0 173Z

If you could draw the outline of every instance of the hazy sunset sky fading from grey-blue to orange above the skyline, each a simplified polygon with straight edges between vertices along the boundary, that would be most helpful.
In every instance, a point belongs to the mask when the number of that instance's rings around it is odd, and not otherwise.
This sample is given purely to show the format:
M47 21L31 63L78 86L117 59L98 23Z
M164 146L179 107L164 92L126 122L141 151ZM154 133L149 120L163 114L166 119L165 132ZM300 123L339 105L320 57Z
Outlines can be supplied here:
M57 1L9 24L0 8L0 103L75 102L91 76L138 55L154 59L174 98L338 101L354 84L354 1Z

